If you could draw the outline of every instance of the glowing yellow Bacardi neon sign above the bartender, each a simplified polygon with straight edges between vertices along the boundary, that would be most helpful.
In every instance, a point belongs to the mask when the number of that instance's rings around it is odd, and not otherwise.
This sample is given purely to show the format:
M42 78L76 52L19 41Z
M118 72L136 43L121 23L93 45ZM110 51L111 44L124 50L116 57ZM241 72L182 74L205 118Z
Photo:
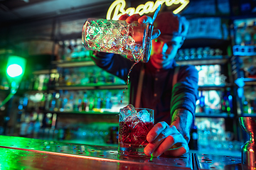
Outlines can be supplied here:
M173 13L176 14L188 5L189 0L157 0L156 2L147 1L146 4L140 4L139 6L137 6L137 8L130 7L127 8L127 10L124 9L126 6L126 2L124 0L116 0L110 5L110 8L107 10L107 19L117 20L119 16L122 16L122 14L124 13L128 13L130 16L134 13L139 13L139 15L141 16L144 13L153 13L154 11L156 11L156 8L159 6L159 4L164 4L164 2L166 6L181 4L173 11Z

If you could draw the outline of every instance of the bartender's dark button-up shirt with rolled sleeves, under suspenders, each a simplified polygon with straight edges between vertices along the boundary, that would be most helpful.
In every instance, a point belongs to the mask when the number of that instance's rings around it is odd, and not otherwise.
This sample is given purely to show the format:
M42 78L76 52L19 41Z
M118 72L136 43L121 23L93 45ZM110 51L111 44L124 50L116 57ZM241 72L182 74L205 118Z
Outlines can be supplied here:
M92 57L98 67L127 81L127 74L134 62L105 52ZM173 87L175 68L178 68L177 81ZM184 108L193 114L198 99L198 71L192 65L178 66L174 61L169 69L156 69L150 62L139 62L134 65L129 75L129 103L135 104L139 75L144 69L140 108L154 109L155 123L171 123L171 115L178 108Z

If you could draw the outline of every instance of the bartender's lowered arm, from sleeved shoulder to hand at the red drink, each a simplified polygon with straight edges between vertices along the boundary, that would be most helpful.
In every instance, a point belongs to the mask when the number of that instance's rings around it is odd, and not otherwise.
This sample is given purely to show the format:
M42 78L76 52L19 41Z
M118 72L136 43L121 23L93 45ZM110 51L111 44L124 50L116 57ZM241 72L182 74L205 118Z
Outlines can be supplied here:
M193 66L180 69L171 100L171 125L156 123L146 137L144 152L152 157L166 154L178 157L189 151L190 129L198 98L198 71Z

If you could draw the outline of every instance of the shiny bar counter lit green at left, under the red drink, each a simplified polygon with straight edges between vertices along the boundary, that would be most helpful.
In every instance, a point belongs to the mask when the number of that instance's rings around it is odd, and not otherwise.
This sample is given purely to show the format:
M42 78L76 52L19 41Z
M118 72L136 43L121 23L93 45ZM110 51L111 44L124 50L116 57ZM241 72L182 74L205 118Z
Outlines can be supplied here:
M0 135L0 169L242 169L240 157L189 152L182 157L121 157L117 147Z

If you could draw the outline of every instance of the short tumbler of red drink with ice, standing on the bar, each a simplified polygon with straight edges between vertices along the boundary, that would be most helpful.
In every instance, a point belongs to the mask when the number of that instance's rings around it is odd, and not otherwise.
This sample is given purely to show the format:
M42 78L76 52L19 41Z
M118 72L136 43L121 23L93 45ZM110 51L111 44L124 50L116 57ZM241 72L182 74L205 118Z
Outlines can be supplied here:
M121 108L119 114L119 155L145 157L146 135L154 126L154 110L149 108Z

